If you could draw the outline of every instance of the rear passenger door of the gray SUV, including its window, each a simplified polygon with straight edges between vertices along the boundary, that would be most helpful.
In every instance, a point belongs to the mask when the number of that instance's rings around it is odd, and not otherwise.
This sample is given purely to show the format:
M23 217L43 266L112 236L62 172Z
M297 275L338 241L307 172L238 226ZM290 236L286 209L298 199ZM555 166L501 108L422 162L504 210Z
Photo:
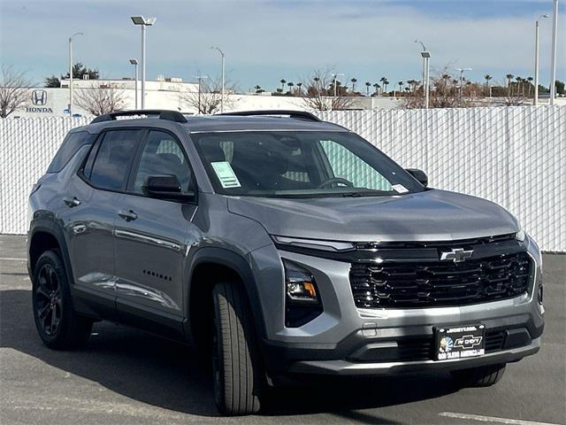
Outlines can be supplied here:
M114 308L114 222L119 200L126 189L134 152L142 130L109 130L101 135L77 177L65 193L68 207L69 255L75 290Z

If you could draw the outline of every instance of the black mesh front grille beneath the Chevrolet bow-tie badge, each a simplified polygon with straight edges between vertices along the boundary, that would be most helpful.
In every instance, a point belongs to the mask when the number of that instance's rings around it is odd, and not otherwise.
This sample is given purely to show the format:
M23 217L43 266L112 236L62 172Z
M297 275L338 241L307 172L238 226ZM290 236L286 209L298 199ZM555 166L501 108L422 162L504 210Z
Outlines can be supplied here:
M355 263L350 285L358 308L470 305L523 294L531 267L526 252L460 263Z

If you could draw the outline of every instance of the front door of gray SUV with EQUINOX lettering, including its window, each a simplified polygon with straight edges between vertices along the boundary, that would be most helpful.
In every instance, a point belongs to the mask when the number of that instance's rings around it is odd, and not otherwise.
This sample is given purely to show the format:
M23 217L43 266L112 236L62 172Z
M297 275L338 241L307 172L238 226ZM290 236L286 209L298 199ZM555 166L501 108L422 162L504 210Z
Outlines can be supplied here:
M146 327L163 322L181 329L184 259L187 239L196 236L191 223L196 205L144 196L142 185L152 174L175 174L183 191L195 190L187 155L172 133L149 130L120 201L122 216L115 230L118 308L141 316Z

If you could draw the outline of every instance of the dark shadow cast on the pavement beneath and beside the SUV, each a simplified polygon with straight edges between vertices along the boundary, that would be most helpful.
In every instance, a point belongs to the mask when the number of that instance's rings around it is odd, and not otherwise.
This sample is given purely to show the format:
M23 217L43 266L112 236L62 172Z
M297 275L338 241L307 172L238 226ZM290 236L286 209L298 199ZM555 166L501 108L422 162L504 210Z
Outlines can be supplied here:
M187 346L103 321L95 324L93 335L83 348L52 351L42 344L35 331L29 290L0 292L0 346L41 359L51 367L142 403L180 413L218 416L210 370ZM448 376L442 374L325 379L270 391L263 413L334 413L350 421L385 423L379 417L354 411L438 398L456 390Z

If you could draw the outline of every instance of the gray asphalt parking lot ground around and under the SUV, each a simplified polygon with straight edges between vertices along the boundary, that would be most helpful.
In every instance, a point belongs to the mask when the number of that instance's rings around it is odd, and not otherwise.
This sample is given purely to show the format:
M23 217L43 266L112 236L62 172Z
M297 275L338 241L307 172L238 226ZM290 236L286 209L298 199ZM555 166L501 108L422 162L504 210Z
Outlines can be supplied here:
M261 414L218 415L210 372L186 346L106 321L73 352L34 328L24 236L0 236L0 423L566 423L566 256L544 255L540 352L501 383L458 389L442 372L276 391Z

